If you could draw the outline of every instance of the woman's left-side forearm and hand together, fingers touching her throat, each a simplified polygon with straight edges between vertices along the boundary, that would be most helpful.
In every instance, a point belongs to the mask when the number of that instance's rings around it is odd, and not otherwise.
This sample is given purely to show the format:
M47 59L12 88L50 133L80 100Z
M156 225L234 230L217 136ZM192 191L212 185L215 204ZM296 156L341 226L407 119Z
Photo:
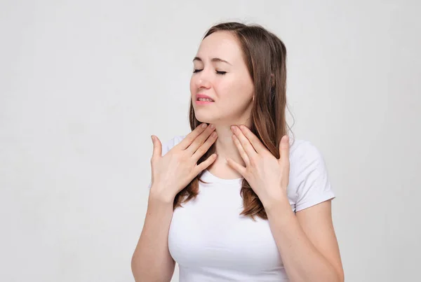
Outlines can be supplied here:
M216 154L213 154L197 164L218 138L218 134L210 136L214 130L215 127L202 124L164 155L161 141L152 136L152 186L145 224L131 261L136 282L171 281L175 262L168 249L168 232L173 218L174 198L200 171L215 161Z

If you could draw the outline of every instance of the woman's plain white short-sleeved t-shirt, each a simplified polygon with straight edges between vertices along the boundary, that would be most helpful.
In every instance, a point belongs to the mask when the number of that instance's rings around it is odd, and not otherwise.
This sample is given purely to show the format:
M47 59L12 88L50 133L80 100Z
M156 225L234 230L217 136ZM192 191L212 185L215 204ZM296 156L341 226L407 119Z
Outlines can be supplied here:
M184 138L163 143L162 154ZM288 281L269 222L239 216L242 178L222 179L205 170L201 179L210 183L199 181L196 199L175 209L168 233L180 282ZM335 197L323 157L309 141L295 139L290 146L287 194L295 212Z

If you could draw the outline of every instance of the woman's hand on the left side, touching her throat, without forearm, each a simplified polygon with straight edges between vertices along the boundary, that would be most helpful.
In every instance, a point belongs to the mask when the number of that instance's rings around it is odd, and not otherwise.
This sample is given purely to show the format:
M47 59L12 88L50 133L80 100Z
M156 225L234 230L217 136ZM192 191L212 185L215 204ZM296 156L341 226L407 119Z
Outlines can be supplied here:
M201 164L197 164L218 138L213 126L203 128L202 125L206 123L197 126L163 156L161 141L154 136L151 195L172 203L178 192L216 160L216 154L213 154Z

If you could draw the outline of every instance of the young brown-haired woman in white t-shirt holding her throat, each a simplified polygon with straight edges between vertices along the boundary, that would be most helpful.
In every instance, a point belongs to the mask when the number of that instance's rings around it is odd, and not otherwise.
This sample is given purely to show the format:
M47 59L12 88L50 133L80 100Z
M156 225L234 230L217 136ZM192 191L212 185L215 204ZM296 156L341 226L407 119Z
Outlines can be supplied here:
M192 132L152 136L135 281L171 281L175 262L180 282L344 281L325 162L288 136L285 45L226 22L193 64Z

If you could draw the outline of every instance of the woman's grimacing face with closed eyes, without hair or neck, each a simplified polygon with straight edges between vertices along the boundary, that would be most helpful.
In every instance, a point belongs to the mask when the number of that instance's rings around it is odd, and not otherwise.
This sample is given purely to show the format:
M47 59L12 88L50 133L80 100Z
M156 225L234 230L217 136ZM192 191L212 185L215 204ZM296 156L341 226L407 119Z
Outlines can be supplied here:
M201 42L193 66L190 93L196 119L215 125L250 123L254 86L236 38L227 31L210 34ZM197 94L214 102L198 102Z

